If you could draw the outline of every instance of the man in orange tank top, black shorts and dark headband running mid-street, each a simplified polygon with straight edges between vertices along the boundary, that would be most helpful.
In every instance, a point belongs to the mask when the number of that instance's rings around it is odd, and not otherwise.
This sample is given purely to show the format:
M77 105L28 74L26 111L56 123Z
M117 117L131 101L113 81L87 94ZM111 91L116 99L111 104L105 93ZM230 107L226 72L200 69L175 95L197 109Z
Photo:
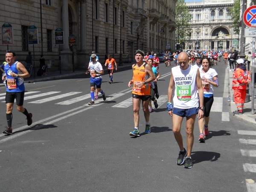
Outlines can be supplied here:
M132 65L133 76L128 82L128 87L132 88L132 103L134 116L134 129L130 132L130 136L140 137L139 121L140 121L140 102L142 101L142 108L145 117L145 133L151 133L149 123L148 103L150 100L150 86L149 84L155 80L154 73L151 67L143 62L145 53L141 50L135 52L136 64Z

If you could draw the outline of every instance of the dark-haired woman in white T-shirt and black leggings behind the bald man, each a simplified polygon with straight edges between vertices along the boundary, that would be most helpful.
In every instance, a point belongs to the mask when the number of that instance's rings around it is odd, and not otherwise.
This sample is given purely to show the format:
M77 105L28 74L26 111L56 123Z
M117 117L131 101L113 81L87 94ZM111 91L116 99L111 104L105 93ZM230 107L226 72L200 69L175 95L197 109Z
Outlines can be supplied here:
M199 141L204 142L204 135L209 134L208 124L210 119L210 111L212 108L213 87L218 87L218 73L212 69L214 63L204 56L201 60L202 67L199 69L200 77L202 79L202 86L204 90L204 118L198 119L199 126Z

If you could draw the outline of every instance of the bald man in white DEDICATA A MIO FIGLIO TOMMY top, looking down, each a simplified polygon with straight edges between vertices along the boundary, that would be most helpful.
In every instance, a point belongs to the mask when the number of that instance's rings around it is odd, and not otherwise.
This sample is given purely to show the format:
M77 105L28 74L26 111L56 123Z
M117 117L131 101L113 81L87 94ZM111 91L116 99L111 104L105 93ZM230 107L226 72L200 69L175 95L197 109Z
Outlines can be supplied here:
M180 148L176 163L177 165L184 164L184 168L192 168L191 152L194 143L195 117L196 114L198 114L198 119L204 116L204 92L198 68L189 65L189 55L186 52L180 52L177 61L178 66L172 68L168 87L167 110L172 116L172 131ZM174 105L172 105L174 91ZM184 117L186 117L186 147L188 151L183 147L183 138L180 133ZM186 160L184 161L185 156Z

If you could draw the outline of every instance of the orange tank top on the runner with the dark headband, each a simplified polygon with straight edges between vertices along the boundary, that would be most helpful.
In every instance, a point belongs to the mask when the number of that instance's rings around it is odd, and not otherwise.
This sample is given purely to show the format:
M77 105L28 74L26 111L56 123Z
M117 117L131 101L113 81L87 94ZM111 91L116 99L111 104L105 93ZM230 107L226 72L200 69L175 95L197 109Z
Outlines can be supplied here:
M149 84L145 84L142 87L137 87L138 82L146 81L149 76L145 73L145 65L146 63L143 63L140 67L137 66L137 64L134 64L133 69L133 88L132 93L136 95L150 95L150 86Z

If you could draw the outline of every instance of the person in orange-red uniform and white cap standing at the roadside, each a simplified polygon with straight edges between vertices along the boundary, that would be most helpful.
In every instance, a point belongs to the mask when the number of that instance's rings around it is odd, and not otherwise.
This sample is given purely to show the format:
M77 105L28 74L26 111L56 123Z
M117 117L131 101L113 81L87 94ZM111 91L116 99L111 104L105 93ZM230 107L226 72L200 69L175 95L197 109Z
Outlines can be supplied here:
M232 89L234 90L234 99L236 111L233 114L243 114L244 100L246 97L246 87L250 84L250 73L246 69L246 63L243 58L236 60L237 67L233 73Z

